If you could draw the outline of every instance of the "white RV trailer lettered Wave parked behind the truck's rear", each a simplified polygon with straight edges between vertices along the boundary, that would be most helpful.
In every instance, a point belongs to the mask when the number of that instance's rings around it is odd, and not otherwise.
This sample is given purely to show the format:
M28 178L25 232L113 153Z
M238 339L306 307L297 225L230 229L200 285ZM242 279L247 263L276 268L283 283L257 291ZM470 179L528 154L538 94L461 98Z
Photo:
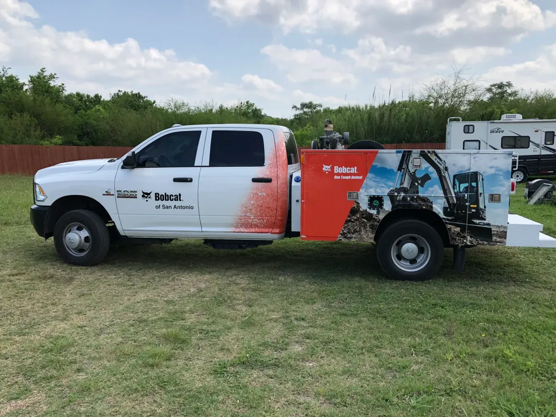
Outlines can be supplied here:
M503 115L502 120L464 122L450 117L446 127L446 149L502 149L519 155L512 178L525 182L530 175L556 174L554 146L556 120L524 119Z

